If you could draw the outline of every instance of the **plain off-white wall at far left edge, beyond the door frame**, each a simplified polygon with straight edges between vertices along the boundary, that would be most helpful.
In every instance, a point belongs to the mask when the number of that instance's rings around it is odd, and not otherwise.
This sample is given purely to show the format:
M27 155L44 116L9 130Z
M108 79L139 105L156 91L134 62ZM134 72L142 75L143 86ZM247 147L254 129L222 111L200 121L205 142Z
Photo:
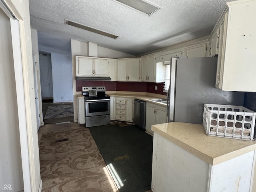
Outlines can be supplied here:
M10 18L0 8L0 189L24 189Z

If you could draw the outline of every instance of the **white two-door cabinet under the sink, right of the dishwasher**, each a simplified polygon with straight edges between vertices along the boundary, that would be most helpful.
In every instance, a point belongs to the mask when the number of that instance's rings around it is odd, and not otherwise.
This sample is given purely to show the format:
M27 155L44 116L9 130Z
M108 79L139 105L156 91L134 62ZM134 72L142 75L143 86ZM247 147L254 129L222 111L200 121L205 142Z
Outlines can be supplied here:
M167 123L167 108L147 102L146 108L146 131L153 134L151 126Z

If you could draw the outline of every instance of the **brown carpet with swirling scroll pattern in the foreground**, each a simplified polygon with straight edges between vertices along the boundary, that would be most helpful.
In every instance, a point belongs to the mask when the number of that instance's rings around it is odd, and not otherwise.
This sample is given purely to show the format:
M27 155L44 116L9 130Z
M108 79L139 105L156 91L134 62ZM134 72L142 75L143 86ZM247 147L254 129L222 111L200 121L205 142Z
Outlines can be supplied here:
M88 129L45 132L39 152L42 192L119 192Z

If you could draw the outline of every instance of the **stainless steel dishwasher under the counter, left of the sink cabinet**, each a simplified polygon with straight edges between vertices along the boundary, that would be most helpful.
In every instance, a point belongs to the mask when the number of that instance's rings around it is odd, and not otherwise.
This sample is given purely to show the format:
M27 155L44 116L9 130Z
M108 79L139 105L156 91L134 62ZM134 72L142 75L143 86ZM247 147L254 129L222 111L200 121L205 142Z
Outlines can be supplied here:
M142 129L146 128L146 101L134 99L133 122Z

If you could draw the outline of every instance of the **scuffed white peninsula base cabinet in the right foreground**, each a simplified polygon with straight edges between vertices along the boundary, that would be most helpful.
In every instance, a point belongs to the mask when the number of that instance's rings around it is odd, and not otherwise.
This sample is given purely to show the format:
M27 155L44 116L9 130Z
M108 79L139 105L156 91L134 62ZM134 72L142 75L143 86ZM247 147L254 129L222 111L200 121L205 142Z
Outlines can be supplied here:
M211 165L157 133L153 139L153 192L252 192L254 151Z

